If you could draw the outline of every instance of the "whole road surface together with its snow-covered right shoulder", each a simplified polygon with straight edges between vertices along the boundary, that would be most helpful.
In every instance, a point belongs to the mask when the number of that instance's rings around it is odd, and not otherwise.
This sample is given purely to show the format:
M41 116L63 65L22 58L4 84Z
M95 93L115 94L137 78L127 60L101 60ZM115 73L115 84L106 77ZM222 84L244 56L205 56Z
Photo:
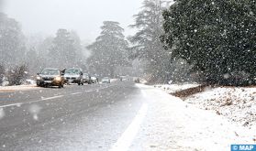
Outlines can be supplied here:
M0 132L0 150L216 151L255 144L255 131L130 81L2 92Z

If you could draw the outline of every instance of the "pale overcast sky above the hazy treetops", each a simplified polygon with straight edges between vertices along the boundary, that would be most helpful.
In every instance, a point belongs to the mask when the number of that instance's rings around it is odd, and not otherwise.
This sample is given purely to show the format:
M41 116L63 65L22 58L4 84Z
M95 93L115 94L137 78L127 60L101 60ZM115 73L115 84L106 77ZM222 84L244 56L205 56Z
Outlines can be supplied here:
M3 1L4 3L1 3ZM54 35L58 28L77 31L83 40L92 42L105 20L118 21L132 30L133 15L143 0L0 0L0 9L21 23L26 35ZM2 7L1 7L2 6Z

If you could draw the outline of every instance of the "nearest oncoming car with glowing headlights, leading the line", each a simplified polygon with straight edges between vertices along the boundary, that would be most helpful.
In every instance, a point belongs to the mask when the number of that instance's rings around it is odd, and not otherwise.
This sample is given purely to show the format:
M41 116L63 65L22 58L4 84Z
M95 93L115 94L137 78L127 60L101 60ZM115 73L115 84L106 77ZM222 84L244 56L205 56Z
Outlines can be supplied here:
M37 75L37 86L58 86L63 88L64 78L61 70L46 68Z

